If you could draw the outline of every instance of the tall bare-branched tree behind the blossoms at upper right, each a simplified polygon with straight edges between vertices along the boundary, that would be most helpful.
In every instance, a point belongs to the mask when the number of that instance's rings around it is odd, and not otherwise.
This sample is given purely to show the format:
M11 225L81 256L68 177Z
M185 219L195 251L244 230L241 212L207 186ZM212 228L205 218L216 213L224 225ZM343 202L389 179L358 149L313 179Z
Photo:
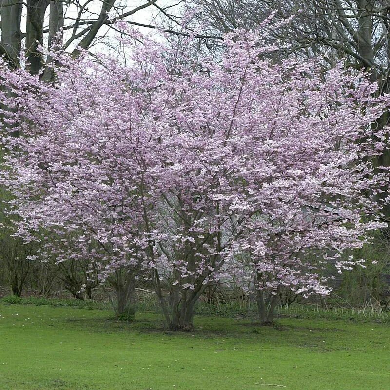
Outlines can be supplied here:
M211 32L256 28L271 14L267 35L281 50L278 56L298 55L324 59L332 67L365 69L379 84L379 93L390 92L390 0L191 0L198 22ZM278 21L288 20L274 29ZM280 57L279 57L280 58ZM390 121L385 112L378 123ZM378 167L390 167L390 153L378 157ZM387 196L389 188L384 188ZM390 206L383 209L390 222ZM390 241L390 228L384 231Z

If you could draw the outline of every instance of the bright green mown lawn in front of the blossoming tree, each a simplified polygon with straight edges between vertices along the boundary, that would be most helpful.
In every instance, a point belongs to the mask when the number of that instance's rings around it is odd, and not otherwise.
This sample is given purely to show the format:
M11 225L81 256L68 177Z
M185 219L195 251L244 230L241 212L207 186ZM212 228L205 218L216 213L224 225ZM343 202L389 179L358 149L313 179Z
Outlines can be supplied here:
M388 390L389 325L197 317L167 332L156 314L0 304L0 389ZM266 384L266 385L263 385Z

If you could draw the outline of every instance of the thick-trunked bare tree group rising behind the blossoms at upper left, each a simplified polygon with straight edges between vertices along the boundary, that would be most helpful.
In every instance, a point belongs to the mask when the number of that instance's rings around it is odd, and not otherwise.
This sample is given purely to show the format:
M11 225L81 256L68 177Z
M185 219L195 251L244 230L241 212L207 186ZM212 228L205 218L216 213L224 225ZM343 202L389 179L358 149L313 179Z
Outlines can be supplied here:
M44 39L47 39L50 47L56 37L59 37L63 41L63 47L77 56L80 48L88 49L106 35L118 20L154 28L155 26L137 23L131 18L148 7L162 15L171 16L169 9L175 7L177 2L164 7L159 5L160 2L161 0L146 0L137 6L131 6L130 1L122 0L0 0L0 54L9 60L11 66L18 66L24 39L30 72L39 74L44 60L37 49ZM24 20L25 33L21 27Z

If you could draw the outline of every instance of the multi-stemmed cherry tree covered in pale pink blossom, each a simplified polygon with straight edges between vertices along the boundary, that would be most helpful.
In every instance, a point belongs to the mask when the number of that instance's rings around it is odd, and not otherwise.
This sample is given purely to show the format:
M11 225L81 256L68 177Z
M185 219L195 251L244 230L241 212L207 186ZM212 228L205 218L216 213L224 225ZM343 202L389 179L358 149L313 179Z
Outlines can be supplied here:
M355 265L340 256L382 226L371 197L388 176L370 161L386 129L369 135L389 98L361 74L264 60L256 32L227 35L218 60L193 59L191 37L134 35L126 65L58 56L54 85L2 66L16 234L46 232L37 257L87 257L101 281L148 277L172 329L193 329L201 293L232 275L263 323L283 286L326 295L322 264Z

